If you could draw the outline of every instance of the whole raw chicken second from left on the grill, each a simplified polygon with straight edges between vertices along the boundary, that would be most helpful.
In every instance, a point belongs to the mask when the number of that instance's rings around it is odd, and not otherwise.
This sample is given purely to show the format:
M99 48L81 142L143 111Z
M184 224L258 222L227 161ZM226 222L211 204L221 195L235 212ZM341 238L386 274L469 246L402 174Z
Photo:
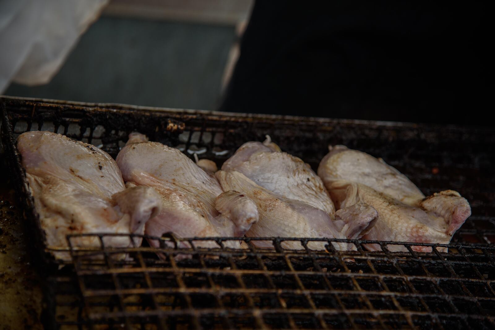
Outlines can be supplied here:
M139 142L136 135L132 142ZM146 234L160 237L242 236L258 219L258 210L247 197L223 192L211 173L205 172L178 149L157 142L128 143L117 156L125 181L153 187L161 196L161 212L148 221ZM150 240L156 246L156 240ZM198 247L218 247L212 241ZM237 241L225 243L240 248ZM188 246L182 244L182 247Z

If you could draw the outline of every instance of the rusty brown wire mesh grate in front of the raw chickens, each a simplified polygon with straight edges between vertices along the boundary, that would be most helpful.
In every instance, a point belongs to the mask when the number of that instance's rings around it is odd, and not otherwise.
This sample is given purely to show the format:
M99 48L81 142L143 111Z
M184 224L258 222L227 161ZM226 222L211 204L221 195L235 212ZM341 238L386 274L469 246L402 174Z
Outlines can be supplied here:
M71 244L92 325L495 328L495 247L421 244L432 252L416 252L417 243L244 238L247 248L232 249L222 244L229 239L215 239L218 248L198 248L195 243L207 239L148 237L161 248L105 248L104 237L99 235L99 248ZM256 240L271 241L273 248L258 248ZM285 241L298 241L300 249L283 248ZM335 241L352 243L356 250L337 251ZM180 242L190 248L177 248ZM325 249L312 250L310 242L324 242ZM382 251L363 249L370 243ZM390 245L407 252L390 252ZM448 253L439 251L447 247Z

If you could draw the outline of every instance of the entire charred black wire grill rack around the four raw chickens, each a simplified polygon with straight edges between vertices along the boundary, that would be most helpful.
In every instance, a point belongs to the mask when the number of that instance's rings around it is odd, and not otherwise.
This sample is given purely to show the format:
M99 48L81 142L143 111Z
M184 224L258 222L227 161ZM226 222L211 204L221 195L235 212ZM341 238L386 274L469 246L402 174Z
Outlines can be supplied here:
M38 239L35 249L49 265L50 329L495 329L494 129L19 98L2 98L0 107L1 139L17 195ZM62 265L50 253L57 249L45 246L15 146L18 134L38 129L101 145L112 157L137 130L218 165L242 143L263 140L265 134L313 169L327 144L345 144L383 157L427 195L459 191L473 215L454 235L448 253L437 249L444 245L394 242L380 242L382 251L369 252L362 248L365 241L347 240L357 251L336 251L331 244L314 251L305 247L308 239L295 238L267 238L273 241L271 250L255 248L254 239L247 238L242 239L246 250L179 249L167 244L188 239L169 236L148 238L163 243L158 249L71 247L63 251L72 253L73 262ZM193 245L197 240L204 239L189 239ZM301 249L283 249L283 240L300 241ZM408 251L390 252L389 244ZM411 246L433 250L420 253ZM165 259L156 257L158 250ZM117 252L131 254L134 261L109 257ZM181 253L191 257L171 257ZM88 258L91 254L103 258ZM108 287L103 292L99 284ZM136 292L142 299L129 302L127 294ZM173 302L160 300L167 294L176 297ZM199 298L210 302L208 308ZM242 315L249 317L243 321Z

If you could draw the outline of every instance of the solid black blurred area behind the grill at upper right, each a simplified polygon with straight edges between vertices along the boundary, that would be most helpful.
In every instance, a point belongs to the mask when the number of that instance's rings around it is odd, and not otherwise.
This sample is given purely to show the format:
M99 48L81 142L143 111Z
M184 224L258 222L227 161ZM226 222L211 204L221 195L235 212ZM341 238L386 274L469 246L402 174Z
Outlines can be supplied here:
M221 109L492 125L492 9L256 1Z

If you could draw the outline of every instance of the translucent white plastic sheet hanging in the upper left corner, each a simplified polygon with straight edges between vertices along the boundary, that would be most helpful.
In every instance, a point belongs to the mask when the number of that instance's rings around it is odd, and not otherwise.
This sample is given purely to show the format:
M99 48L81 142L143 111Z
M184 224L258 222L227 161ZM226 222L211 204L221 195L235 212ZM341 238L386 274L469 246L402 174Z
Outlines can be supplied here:
M47 83L108 0L0 0L0 94Z

